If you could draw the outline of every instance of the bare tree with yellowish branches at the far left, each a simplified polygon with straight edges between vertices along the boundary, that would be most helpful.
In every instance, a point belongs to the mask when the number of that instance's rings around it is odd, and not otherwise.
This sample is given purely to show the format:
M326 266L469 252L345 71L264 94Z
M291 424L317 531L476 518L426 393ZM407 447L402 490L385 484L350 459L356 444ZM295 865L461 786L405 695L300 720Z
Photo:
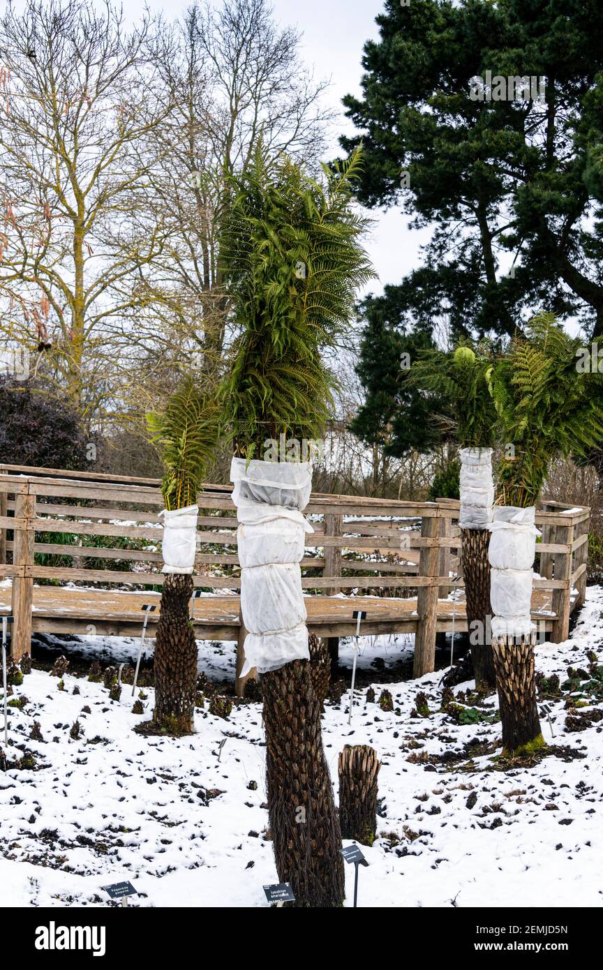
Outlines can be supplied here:
M128 321L161 305L126 285L166 238L145 210L158 159L135 150L174 107L149 66L152 32L149 16L127 30L109 0L28 0L0 20L0 330L46 354L83 414L114 407Z

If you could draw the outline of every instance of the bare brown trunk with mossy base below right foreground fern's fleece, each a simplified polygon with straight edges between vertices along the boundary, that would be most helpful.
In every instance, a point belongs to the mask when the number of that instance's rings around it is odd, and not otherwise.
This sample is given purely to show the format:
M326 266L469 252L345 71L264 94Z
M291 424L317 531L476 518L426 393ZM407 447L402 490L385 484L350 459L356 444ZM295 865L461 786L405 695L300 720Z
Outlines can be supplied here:
M498 688L502 748L507 757L528 755L545 747L534 679L534 638L492 638Z

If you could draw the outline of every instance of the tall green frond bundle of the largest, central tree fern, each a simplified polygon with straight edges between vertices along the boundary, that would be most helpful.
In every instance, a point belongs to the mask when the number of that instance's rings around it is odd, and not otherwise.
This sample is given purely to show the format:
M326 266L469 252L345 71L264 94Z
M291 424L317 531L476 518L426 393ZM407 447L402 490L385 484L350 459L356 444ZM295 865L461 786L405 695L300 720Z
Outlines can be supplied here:
M360 152L317 182L289 158L269 162L263 146L232 178L221 257L240 336L222 388L238 454L258 455L267 438L322 434L333 373L321 351L355 313L372 271L360 243L366 221L353 209Z

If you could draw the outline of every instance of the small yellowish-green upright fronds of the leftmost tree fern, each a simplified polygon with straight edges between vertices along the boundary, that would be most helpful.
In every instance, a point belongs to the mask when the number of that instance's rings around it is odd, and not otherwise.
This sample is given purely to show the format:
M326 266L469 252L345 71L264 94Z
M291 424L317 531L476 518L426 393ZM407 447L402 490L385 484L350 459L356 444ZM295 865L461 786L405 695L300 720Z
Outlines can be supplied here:
M161 491L166 508L196 503L218 440L218 414L215 401L187 378L165 411L146 415L151 441L159 445L165 465Z

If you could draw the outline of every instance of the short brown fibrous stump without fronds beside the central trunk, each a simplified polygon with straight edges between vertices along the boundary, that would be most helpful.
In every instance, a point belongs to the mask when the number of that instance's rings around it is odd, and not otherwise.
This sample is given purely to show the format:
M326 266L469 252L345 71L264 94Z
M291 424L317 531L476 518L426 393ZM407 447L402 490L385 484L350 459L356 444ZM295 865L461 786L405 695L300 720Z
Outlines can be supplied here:
M377 753L367 744L349 745L339 755L339 824L344 839L373 843L377 830Z

